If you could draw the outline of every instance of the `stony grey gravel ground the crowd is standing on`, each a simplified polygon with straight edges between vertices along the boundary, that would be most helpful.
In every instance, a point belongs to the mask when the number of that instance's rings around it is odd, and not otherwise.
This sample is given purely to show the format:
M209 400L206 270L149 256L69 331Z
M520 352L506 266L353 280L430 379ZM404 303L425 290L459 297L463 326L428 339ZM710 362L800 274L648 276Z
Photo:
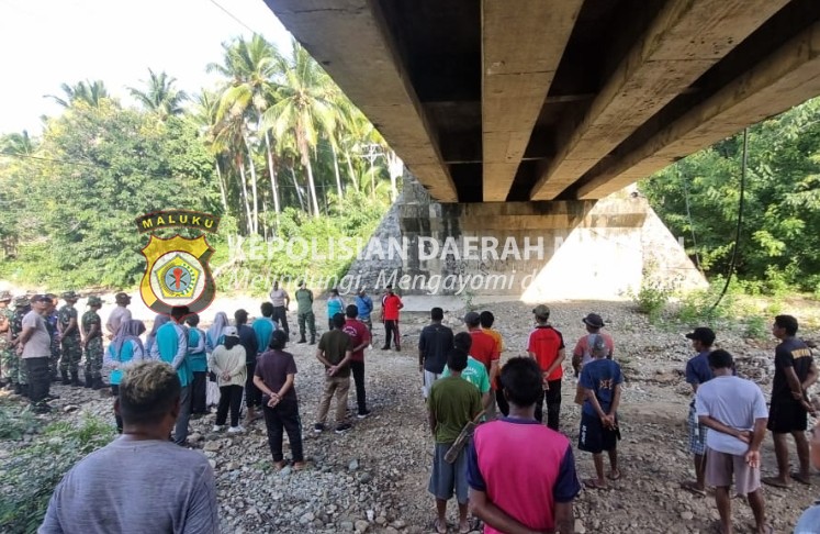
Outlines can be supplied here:
M255 308L248 305L248 309ZM316 308L324 309L318 303ZM496 315L496 326L507 346L504 358L525 355L531 307L499 302L484 308ZM613 482L609 490L582 492L575 503L576 531L712 532L718 518L714 499L679 489L679 482L692 477L685 425L689 387L683 380L683 368L692 351L683 336L685 330L650 326L628 303L566 302L551 308L552 324L563 332L570 349L584 334L581 318L591 311L600 313L615 338L616 359L627 377L620 410L624 440L619 444L619 455L624 477ZM458 331L462 313L461 310L448 312L445 322ZM316 322L325 324L323 316ZM201 449L214 466L223 532L431 531L435 505L427 493L427 480L433 443L420 394L416 353L416 340L426 322L423 314L403 316L401 353L368 351L367 387L373 413L364 420L353 418L353 429L342 435L313 434L322 368L314 357L315 347L290 345L299 366L296 390L305 454L311 460L311 468L305 471L272 469L261 421L246 425L244 435L231 437L211 433L212 416L191 422L191 447ZM292 326L294 323L295 315L291 318ZM801 334L817 337L811 331ZM382 341L383 333L377 332L374 346L379 347ZM740 334L718 331L718 345L735 355L742 376L757 380L764 392L768 392L774 341L745 340ZM575 443L580 409L572 403L574 380L570 375L571 371L564 377L561 430ZM59 385L53 389L61 396L53 404L64 410L70 407L71 411L48 419L77 419L87 412L110 414L111 399L105 391ZM352 416L352 388L349 407L348 413ZM285 445L285 456L287 450ZM588 477L594 472L589 455L576 452L576 459L580 476ZM794 450L793 461L796 461ZM773 444L767 436L763 472L774 471ZM815 477L812 488L800 485L790 489L765 487L767 514L775 532L791 532L801 510L820 497L818 482L820 479ZM456 532L454 504L451 504L449 519L450 532ZM737 532L753 531L751 510L742 500L734 501L734 519Z

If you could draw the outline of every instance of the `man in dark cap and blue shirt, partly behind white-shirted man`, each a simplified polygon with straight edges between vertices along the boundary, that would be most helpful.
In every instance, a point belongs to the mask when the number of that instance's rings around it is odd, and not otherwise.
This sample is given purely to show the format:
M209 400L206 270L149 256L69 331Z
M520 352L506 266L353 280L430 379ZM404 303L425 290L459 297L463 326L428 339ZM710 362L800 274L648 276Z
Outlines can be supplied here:
M692 386L693 393L692 402L689 402L687 426L689 429L689 452L695 456L695 481L687 480L681 487L693 493L705 496L704 477L706 474L706 433L708 429L698 422L694 396L697 394L697 388L700 385L714 378L709 367L709 353L711 353L711 346L715 343L715 332L706 326L699 326L686 334L686 338L692 340L692 348L697 352L697 356L686 363L686 383Z

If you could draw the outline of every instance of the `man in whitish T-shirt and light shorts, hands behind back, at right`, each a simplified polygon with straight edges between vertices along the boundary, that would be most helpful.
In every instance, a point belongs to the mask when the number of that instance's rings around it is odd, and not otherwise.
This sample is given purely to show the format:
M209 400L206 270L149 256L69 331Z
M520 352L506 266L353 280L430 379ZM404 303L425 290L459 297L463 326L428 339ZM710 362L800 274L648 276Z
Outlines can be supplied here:
M706 435L706 483L715 487L720 513L720 532L732 532L729 489L748 496L757 533L773 532L766 524L761 489L761 443L766 434L766 401L763 391L751 380L732 375L732 355L726 351L709 353L715 378L701 385L695 408Z

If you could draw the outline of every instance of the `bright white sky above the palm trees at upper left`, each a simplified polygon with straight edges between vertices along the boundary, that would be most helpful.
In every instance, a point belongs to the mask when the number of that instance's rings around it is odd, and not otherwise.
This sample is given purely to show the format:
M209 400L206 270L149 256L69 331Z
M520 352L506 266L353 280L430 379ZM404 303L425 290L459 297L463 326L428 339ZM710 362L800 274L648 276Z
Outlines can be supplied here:
M214 84L205 65L221 63L222 43L252 32L290 48L262 0L0 0L0 133L38 134L40 116L60 111L43 96L63 96L64 82L101 79L132 105L127 87L145 87L150 67L199 92Z

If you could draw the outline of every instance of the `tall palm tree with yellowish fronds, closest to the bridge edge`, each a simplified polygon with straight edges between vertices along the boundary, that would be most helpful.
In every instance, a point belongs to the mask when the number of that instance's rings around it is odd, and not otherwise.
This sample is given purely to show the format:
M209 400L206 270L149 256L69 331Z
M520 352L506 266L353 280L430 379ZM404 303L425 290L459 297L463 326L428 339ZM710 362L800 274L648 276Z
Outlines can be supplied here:
M292 56L278 87L279 100L262 114L262 130L271 127L279 140L288 135L295 140L302 167L307 175L314 215L319 214L319 208L311 151L315 151L321 133L329 137L336 130L338 107L333 87L327 74L293 41Z

